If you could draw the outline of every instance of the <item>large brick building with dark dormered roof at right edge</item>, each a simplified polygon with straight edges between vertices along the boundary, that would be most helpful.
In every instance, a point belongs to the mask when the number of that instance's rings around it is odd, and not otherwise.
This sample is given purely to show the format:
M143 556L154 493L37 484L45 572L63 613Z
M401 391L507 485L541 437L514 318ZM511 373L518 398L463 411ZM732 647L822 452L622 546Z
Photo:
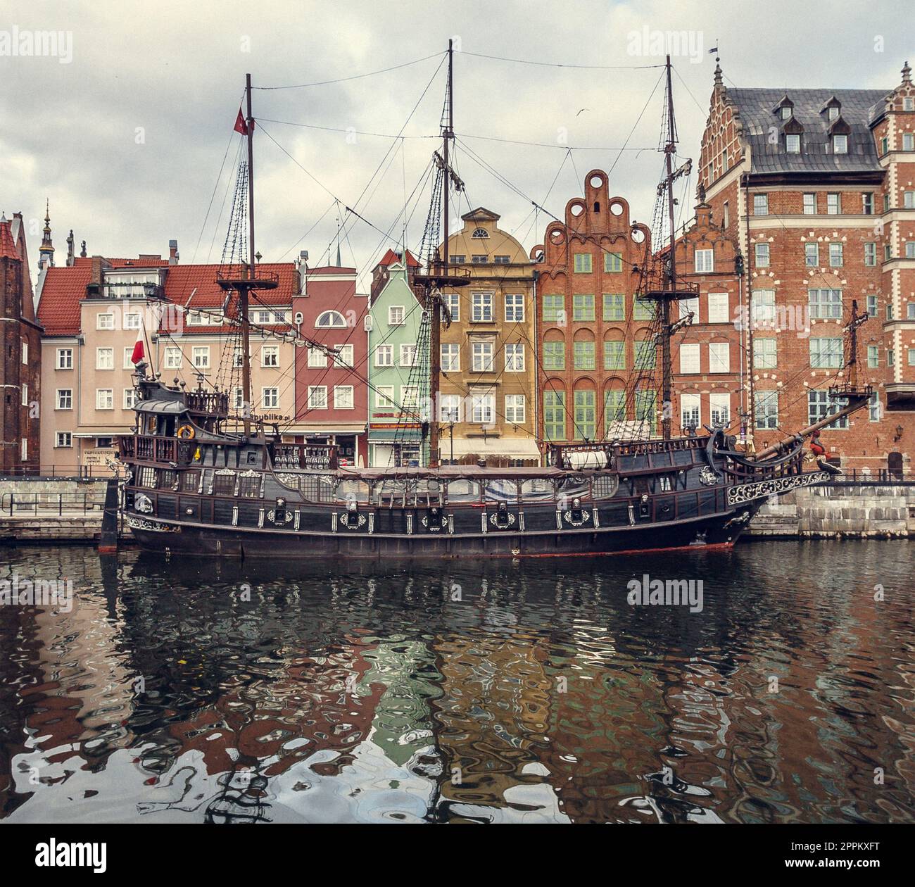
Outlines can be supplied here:
M823 431L848 468L910 470L915 444L915 86L741 89L720 67L700 196L745 257L750 431L762 447L827 415L843 327L859 330L866 411Z

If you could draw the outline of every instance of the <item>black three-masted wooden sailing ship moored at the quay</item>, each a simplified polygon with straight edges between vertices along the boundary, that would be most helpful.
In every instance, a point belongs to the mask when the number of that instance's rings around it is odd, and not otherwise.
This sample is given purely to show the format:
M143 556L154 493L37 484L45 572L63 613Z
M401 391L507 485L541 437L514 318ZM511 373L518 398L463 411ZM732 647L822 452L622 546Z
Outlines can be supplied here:
M771 496L821 484L838 471L823 460L816 436L865 406L871 394L870 386L858 383L856 330L867 316L858 314L856 304L845 325L844 367L830 388L834 412L755 453L741 449L725 424L672 434L671 343L692 317L680 317L674 307L695 297L696 287L677 273L673 186L688 162L676 168L670 58L658 223L633 269L640 281L638 296L653 307L658 360L651 362L651 371L636 367L628 392L656 373L655 365L660 368L655 381L660 434L651 435L653 423L635 412L614 427L612 436L572 444L538 441L544 453L539 466L442 464L437 411L417 405L438 401L440 335L450 321L443 291L470 283L466 269L448 254L450 195L463 184L449 162L454 139L450 44L447 62L442 145L435 154L432 207L414 276L422 309L416 362L428 368L428 390L416 402L397 405L400 422L419 438L418 458L392 457L386 467L363 468L341 459L335 446L284 441L278 427L247 408L235 409L227 386L209 385L202 376L194 391L163 382L143 360L141 348L135 355L135 427L117 441L122 514L139 546L186 555L289 558L545 557L732 546ZM263 331L253 323L251 308L259 292L278 283L257 264L254 246L250 75L246 107L236 129L247 139L247 162L240 165L234 239L223 254L217 283L238 335L242 404L250 405L249 337L251 330ZM295 327L284 335L331 360L337 356ZM352 372L362 378L358 367ZM805 448L809 438L810 450Z

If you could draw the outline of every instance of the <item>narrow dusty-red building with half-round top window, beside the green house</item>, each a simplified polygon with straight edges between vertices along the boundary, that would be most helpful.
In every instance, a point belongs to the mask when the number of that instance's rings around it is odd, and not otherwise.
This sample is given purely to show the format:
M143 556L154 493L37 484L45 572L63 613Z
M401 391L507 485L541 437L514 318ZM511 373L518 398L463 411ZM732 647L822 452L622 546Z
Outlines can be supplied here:
M296 348L296 420L290 431L301 443L336 444L342 460L366 465L369 297L356 292L355 268L303 264L300 274L294 325L302 336L339 353L331 358L318 349Z

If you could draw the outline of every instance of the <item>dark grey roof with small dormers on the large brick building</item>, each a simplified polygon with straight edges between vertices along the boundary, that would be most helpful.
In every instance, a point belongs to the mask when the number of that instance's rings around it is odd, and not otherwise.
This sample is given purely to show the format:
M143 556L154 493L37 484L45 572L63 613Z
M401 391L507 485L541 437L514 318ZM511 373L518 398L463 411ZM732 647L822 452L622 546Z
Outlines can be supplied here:
M753 173L873 172L880 169L877 147L868 124L872 109L888 90L759 90L729 89L727 98L737 105L750 146ZM787 97L794 104L793 119L803 126L801 154L786 154L782 121L773 109ZM833 154L824 106L831 98L842 103L841 118L851 127L848 153ZM770 144L771 128L779 138Z

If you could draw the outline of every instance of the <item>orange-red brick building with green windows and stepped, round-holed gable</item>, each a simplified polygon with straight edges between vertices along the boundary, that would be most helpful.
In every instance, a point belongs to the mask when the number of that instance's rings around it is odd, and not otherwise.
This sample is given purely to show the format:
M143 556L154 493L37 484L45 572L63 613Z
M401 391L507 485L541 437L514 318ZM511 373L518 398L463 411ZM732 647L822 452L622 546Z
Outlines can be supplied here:
M565 204L531 255L537 265L538 438L595 440L656 433L658 392L627 398L634 367L655 363L651 305L635 298L651 233L630 222L629 203L609 196L607 174L587 174L584 197ZM635 425L638 423L638 426Z

